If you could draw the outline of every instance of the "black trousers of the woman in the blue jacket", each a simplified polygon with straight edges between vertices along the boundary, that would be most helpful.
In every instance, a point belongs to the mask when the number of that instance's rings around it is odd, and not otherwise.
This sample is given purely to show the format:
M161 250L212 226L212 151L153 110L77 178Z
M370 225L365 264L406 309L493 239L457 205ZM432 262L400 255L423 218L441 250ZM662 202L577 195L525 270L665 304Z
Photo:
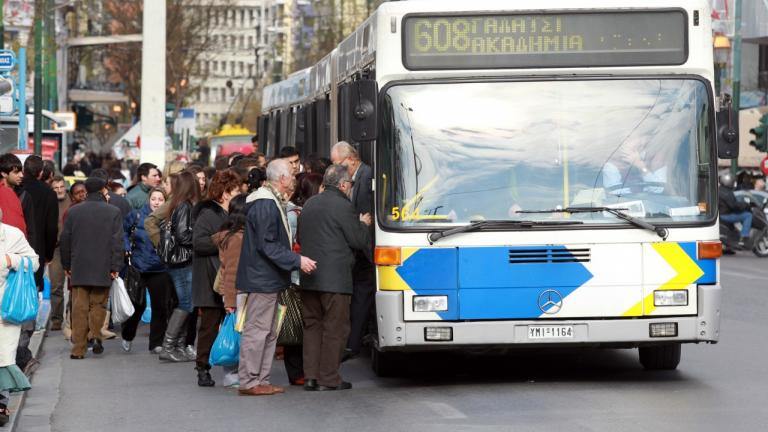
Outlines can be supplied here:
M171 316L169 305L173 292L173 281L167 273L142 273L141 280L149 292L149 301L152 307L152 321L149 323L149 349L163 345L165 329L168 327L168 318ZM136 312L122 325L122 338L132 341L136 337L136 330L141 321L144 309L136 309Z

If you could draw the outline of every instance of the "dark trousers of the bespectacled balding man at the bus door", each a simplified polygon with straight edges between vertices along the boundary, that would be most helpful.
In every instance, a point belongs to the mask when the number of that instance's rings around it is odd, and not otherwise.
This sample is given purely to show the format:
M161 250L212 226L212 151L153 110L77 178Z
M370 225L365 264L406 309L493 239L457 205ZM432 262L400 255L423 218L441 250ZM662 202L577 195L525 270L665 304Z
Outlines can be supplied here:
M363 337L368 333L368 324L373 313L376 297L376 277L373 266L366 262L356 265L352 272L352 300L350 305L350 331L347 349L355 353L363 347Z

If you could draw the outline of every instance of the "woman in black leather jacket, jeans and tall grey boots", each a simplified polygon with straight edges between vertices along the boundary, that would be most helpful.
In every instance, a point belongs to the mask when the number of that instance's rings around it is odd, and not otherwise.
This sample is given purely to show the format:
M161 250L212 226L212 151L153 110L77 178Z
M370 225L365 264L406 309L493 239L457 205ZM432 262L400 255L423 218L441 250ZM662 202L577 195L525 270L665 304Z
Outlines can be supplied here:
M192 315L192 258L193 225L192 209L200 201L200 186L197 178L189 171L179 173L174 185L168 216L164 223L170 224L173 250L166 259L168 273L173 279L178 306L171 313L163 339L163 350L159 359L172 362L192 361L197 357L194 350L197 317ZM162 209L159 207L157 211ZM148 226L147 221L144 222ZM149 229L147 229L149 232ZM152 235L151 233L149 233Z

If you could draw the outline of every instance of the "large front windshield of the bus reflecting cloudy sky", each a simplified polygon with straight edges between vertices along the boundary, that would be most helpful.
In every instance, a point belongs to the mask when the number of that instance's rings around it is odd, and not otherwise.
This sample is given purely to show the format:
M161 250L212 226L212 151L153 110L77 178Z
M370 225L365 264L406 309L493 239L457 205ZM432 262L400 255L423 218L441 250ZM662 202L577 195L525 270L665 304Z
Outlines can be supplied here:
M712 106L696 79L403 84L384 94L379 218L696 223L715 211ZM528 213L530 211L542 213Z

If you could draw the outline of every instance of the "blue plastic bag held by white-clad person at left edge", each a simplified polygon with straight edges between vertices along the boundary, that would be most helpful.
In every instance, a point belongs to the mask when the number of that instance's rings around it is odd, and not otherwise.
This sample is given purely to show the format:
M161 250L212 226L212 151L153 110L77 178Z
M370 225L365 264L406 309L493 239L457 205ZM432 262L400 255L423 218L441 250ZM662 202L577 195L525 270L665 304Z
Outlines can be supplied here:
M21 268L8 273L7 285L0 304L3 321L21 324L37 318L37 285L32 258L24 257Z

